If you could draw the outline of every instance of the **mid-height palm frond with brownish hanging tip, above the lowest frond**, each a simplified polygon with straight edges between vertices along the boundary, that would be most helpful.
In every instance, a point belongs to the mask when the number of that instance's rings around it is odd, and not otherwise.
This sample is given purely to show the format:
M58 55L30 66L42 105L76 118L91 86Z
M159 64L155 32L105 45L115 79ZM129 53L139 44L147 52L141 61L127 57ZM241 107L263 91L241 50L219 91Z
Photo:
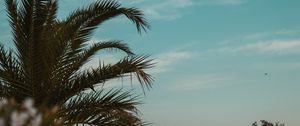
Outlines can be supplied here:
M153 66L152 60L148 56L126 57L114 65L100 65L96 69L86 70L84 73L75 77L71 90L83 91L86 88L92 88L100 83L113 78L123 77L130 73L135 73L141 86L151 88L152 77L144 70ZM73 94L74 95L74 94Z

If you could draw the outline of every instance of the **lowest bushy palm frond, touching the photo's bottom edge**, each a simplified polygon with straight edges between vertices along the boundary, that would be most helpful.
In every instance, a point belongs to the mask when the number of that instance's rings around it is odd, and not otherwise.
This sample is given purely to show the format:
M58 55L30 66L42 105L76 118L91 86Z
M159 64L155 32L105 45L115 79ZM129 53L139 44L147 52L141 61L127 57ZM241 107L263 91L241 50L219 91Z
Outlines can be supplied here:
M134 126L140 122L136 117L137 97L130 92L110 90L90 92L72 98L63 107L63 118L70 124Z

